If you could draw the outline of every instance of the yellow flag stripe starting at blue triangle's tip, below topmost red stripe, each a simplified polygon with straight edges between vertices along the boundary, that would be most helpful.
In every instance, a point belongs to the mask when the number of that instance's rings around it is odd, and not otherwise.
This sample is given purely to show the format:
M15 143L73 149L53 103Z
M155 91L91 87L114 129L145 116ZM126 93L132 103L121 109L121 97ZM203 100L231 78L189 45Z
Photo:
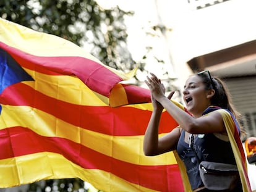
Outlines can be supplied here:
M45 75L25 69L36 81L23 81L36 91L83 106L108 106L108 98L90 90L79 78L67 75Z

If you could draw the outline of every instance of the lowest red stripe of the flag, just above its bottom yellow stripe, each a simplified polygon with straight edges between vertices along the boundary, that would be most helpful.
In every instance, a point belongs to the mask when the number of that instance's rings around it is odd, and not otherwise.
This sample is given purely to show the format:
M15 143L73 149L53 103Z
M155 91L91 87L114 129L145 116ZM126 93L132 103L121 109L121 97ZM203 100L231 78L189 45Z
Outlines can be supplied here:
M1 148L4 149L0 151L0 159L43 151L55 152L85 169L105 170L131 183L153 190L181 191L182 180L177 164L158 166L130 164L105 156L73 141L40 136L22 127L1 130L0 138ZM169 186L169 189L166 186Z

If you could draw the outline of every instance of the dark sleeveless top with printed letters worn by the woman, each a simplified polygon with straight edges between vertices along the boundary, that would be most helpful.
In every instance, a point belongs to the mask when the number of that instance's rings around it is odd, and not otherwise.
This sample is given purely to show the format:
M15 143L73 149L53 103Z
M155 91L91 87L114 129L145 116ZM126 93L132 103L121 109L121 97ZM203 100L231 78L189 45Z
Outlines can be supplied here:
M192 190L203 186L198 170L198 165L201 161L222 162L236 165L229 141L223 141L217 138L213 133L194 135L193 148L200 162L198 162L191 146L184 140L185 131L182 130L177 144L177 153L186 166Z

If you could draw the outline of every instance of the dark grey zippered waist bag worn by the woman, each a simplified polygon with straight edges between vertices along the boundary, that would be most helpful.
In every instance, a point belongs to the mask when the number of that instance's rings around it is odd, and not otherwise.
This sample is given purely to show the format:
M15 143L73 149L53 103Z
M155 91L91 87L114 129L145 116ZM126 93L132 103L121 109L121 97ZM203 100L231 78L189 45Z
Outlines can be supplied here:
M238 184L239 172L236 165L202 161L199 172L208 190L233 190Z

